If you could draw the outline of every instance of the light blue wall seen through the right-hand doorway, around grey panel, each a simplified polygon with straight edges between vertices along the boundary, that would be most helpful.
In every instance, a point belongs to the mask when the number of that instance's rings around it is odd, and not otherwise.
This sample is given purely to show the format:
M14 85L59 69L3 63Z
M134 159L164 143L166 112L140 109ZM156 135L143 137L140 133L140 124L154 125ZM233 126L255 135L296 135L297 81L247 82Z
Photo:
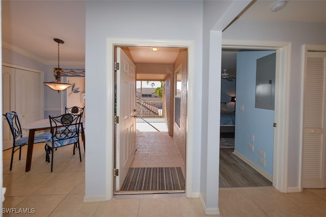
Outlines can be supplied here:
M255 108L256 60L275 51L237 53L235 151L273 176L274 110ZM243 111L239 107L243 106ZM252 138L253 136L253 138ZM254 146L254 151L248 145ZM265 167L258 162L258 150L265 152Z

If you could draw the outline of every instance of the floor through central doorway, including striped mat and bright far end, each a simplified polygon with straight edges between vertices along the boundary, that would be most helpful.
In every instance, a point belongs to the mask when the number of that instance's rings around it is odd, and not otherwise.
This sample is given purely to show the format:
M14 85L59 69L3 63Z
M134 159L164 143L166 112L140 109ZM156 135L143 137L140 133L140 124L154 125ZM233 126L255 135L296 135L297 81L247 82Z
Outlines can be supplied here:
M184 193L185 165L165 119L137 118L136 128L134 158L115 194Z

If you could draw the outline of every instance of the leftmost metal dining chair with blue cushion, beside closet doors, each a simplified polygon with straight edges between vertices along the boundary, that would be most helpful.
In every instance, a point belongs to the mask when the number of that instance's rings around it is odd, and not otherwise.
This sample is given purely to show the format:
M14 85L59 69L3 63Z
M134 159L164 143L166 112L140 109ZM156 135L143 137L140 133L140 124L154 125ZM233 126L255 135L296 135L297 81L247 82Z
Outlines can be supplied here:
M3 114L6 117L8 124L10 126L10 131L13 137L13 145L10 160L10 170L12 169L12 162L14 158L14 153L19 150L19 160L21 158L21 147L29 144L29 137L22 136L22 130L19 122L19 118L16 112L7 112ZM40 133L35 135L34 143L44 143L51 138L51 133Z

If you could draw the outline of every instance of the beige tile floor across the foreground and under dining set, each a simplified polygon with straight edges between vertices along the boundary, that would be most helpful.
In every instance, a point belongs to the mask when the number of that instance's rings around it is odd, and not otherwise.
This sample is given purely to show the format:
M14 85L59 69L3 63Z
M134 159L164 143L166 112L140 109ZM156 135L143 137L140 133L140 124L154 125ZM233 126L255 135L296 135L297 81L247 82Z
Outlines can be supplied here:
M45 162L44 144L36 144L32 170L25 173L26 147L22 159L15 155L9 171L10 150L3 152L4 208L35 208L34 214L4 216L205 216L198 198L183 194L115 196L114 200L84 203L85 153L82 162L72 146L55 152L53 172ZM220 189L221 215L210 216L326 216L326 189L305 189L282 194L273 187Z

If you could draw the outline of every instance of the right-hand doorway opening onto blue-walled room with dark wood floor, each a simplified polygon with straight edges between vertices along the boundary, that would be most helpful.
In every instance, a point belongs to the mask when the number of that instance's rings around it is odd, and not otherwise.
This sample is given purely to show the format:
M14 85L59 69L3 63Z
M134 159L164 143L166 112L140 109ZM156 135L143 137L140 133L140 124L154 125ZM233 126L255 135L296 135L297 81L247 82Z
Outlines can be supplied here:
M229 73L222 74L221 79L220 187L272 186L275 50L233 52L235 55L226 56L232 60L223 60L222 55L222 68ZM234 66L230 65L232 61ZM268 99L259 94L262 86ZM235 109L232 96L236 96ZM222 103L231 110L223 108ZM229 138L230 132L225 133L227 121L233 117L235 140ZM233 147L228 140L233 142Z

